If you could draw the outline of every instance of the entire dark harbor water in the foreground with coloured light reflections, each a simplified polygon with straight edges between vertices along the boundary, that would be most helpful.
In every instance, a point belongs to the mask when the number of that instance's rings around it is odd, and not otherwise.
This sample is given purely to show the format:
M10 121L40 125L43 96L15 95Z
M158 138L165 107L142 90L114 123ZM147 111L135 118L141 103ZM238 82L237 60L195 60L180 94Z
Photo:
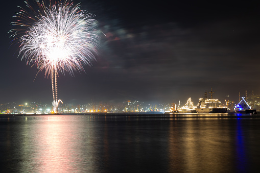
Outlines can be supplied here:
M0 116L0 169L258 172L260 116L234 115Z

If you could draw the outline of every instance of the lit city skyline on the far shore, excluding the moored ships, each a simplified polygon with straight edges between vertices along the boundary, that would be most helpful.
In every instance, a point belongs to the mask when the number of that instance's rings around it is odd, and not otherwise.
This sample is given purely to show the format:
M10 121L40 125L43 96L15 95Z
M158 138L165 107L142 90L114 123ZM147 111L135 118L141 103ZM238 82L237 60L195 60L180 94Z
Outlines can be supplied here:
M211 93L205 93L204 97L199 98L199 103L194 102L191 98L183 102L175 103L149 103L140 101L124 101L121 103L105 103L105 102L85 102L84 104L66 103L59 106L59 113L131 113L131 112L171 112L175 108L181 111L183 108L192 106L199 108L203 98L210 100ZM229 100L229 97L224 102L219 102L218 99L213 99L212 104L219 104L223 109L228 109L232 112L237 105L245 102L250 109L260 110L260 94L241 95L238 102ZM211 102L210 102L211 103ZM216 105L215 105L216 106ZM53 112L53 107L49 103L28 102L28 103L0 103L0 113L3 114L50 114ZM183 113L182 111L180 113ZM198 112L197 112L198 113Z

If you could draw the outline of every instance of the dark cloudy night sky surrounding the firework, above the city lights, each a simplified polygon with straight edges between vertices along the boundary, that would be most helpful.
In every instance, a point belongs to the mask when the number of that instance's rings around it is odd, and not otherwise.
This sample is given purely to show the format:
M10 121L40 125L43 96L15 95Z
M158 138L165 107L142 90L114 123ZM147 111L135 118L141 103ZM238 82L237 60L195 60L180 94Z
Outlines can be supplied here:
M64 103L194 103L212 87L237 102L260 94L260 3L256 1L74 1L96 14L97 61L58 78ZM0 103L53 100L51 79L18 57L8 31L23 1L1 4Z

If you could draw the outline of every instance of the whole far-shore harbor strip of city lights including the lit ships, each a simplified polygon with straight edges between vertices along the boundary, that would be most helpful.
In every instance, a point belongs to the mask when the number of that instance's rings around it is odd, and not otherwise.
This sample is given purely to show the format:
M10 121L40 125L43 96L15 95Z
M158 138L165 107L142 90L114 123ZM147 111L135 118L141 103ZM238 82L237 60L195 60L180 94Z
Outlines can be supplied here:
M179 104L150 104L139 101L125 101L117 104L95 103L91 102L86 105L61 104L55 113L53 107L41 103L25 104L1 104L0 112L3 115L108 115L108 114L221 114L221 113L242 113L256 114L259 112L260 98L252 94L251 97L240 96L238 102L225 100L222 103L212 93L205 91L203 96L196 100L191 97L187 99L183 106ZM222 99L223 100L223 99ZM0 114L0 115L1 115Z

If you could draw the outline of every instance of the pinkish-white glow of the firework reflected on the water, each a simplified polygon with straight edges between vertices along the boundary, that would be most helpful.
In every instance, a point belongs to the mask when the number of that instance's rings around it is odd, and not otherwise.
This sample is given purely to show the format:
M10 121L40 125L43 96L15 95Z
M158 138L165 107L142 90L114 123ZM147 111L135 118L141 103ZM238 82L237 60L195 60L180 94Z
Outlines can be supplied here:
M87 162L88 157L83 160L78 160L78 158L81 155L89 155L88 151L82 150L82 147L88 144L84 140L91 134L89 128L84 128L82 123L75 126L74 123L67 123L57 117L50 117L48 122L39 122L32 127L29 126L31 126L30 123L26 123L24 127L26 130L20 133L24 141L19 152L23 153L22 160L25 160L19 165L20 171L87 170L80 166ZM92 151L91 145L89 148L89 151ZM88 169L91 170L92 166L88 165Z

